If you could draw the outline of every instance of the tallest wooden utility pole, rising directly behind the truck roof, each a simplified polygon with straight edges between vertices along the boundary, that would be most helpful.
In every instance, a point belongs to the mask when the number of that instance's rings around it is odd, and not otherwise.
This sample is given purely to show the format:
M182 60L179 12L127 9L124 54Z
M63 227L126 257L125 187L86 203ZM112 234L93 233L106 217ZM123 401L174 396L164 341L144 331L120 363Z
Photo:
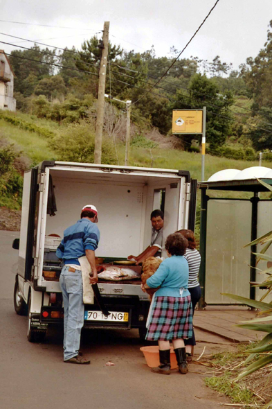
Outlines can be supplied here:
M103 49L100 61L99 71L99 85L98 85L98 112L96 117L96 141L94 148L94 163L101 163L102 153L102 132L104 122L104 105L105 105L105 86L106 86L106 73L107 73L107 60L109 49L109 21L105 21L103 30Z

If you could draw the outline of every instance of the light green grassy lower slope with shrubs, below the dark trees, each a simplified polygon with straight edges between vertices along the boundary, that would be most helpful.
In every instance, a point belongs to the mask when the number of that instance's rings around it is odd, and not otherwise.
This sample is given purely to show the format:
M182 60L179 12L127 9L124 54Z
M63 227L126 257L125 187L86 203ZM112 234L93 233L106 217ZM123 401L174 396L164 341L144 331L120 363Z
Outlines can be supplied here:
M184 169L189 170L193 178L201 179L200 153L184 151L181 146L173 148L177 141L171 137L152 135L148 131L146 135L149 137L144 134L132 137L130 166ZM50 159L93 162L94 128L86 121L56 126L53 121L35 115L0 112L0 143L0 206L19 209L22 175L27 168ZM124 165L125 143L116 141L114 145L105 135L102 162ZM257 164L257 161L206 155L205 176L208 179L225 168L244 169ZM271 167L269 162L263 165Z

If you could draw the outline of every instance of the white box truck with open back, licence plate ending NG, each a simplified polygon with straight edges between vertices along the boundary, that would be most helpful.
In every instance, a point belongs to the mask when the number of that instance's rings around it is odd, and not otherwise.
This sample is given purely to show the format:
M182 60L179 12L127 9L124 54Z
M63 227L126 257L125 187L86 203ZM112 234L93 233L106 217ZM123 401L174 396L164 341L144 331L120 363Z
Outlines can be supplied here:
M98 209L96 256L110 264L140 254L150 244L154 209L165 214L164 240L177 229L194 229L196 192L197 181L190 179L188 171L172 169L45 161L27 171L20 238L12 247L19 250L15 311L28 315L28 340L42 340L48 326L63 322L58 281L62 265L55 250L64 229L76 223L85 204ZM162 255L166 256L164 251ZM98 288L106 308L114 314L102 320L95 299L94 304L85 305L84 327L138 328L143 338L149 299L140 289L140 278L99 280Z

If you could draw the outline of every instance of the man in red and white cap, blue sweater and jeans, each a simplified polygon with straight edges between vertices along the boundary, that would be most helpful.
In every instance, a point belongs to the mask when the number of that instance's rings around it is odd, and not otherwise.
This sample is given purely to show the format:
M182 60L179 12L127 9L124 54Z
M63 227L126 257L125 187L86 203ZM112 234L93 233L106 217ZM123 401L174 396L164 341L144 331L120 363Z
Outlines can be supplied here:
M57 257L64 261L60 275L60 288L64 303L64 362L89 364L90 361L78 355L80 334L84 324L83 285L80 261L87 256L91 266L90 284L98 282L95 250L98 247L100 232L98 211L93 204L84 206L80 220L64 230L64 238L57 247Z

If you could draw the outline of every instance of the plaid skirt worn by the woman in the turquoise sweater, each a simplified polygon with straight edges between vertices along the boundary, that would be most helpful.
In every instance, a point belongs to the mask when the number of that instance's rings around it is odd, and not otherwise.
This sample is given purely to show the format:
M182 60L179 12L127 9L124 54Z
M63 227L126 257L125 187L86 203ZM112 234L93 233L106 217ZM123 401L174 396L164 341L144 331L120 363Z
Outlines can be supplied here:
M145 339L149 341L169 341L191 337L191 296L155 297Z

